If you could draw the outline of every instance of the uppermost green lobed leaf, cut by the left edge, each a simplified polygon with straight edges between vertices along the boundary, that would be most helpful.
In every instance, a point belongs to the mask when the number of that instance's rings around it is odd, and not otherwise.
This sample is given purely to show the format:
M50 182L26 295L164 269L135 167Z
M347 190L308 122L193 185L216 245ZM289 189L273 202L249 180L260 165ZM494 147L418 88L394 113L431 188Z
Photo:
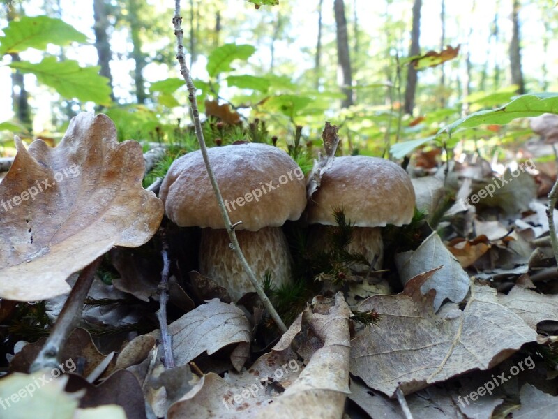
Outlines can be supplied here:
M0 57L27 48L46 50L47 45L68 45L73 41L85 43L87 37L60 19L47 16L22 16L13 20L0 37Z

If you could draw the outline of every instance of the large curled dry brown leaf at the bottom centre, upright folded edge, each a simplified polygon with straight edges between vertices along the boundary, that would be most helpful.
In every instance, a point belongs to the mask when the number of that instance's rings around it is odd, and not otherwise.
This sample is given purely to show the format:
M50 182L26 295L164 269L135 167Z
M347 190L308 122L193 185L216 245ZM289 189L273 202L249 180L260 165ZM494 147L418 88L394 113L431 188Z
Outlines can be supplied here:
M301 330L297 321L287 332L289 337L248 371L231 372L225 378L206 374L171 406L169 419L341 418L349 393L349 314L338 293L328 314L299 317L303 328L322 341L306 368L291 348L285 348Z

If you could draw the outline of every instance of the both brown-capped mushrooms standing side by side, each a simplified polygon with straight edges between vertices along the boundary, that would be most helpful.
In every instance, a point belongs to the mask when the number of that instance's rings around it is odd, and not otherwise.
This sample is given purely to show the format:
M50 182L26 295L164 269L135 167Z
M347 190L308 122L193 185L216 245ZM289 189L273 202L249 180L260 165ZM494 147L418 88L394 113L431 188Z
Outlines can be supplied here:
M286 152L264 144L213 147L208 154L231 222L242 221L235 227L236 235L256 277L263 278L269 270L276 286L289 283L292 258L281 226L287 220L299 219L306 208L301 168ZM202 228L202 274L226 288L235 302L254 291L229 248L201 152L186 154L172 163L160 198L171 221ZM409 223L414 202L411 180L395 163L366 156L338 157L312 196L308 222L333 226L332 207L342 205L347 220L356 226L347 250L363 253L368 260L376 256L381 260L379 227Z

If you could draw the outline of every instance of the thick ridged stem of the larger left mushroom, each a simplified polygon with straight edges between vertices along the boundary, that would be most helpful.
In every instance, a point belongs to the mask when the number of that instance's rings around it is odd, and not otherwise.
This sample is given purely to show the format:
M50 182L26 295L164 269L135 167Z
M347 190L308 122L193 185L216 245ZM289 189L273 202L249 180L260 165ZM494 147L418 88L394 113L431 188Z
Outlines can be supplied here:
M236 237L246 260L261 281L267 270L277 288L291 281L292 258L287 238L280 227L265 227L258 231L238 230ZM255 291L248 275L229 247L225 230L202 230L202 251L199 271L229 291L235 302L244 294Z

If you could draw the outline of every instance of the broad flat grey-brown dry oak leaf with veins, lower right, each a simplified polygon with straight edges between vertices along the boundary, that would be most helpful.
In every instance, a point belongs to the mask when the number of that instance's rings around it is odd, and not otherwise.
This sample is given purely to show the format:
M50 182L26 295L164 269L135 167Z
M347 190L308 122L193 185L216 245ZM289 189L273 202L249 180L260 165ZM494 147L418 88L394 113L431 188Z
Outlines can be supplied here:
M435 291L421 294L424 280L409 281L406 295L374 295L359 306L359 311L375 309L382 318L379 327L366 328L352 340L351 372L370 388L392 397L400 386L409 394L494 367L536 340L525 321L498 304L494 288L472 284L465 308L442 316L432 311Z

